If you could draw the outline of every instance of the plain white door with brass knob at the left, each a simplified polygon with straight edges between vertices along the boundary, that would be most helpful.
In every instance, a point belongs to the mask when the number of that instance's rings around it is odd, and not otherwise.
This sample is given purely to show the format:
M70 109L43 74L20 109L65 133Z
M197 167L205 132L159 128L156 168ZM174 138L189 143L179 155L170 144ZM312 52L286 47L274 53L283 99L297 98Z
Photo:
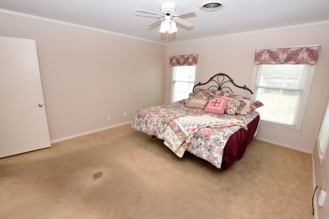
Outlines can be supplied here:
M50 147L35 41L0 36L0 157Z

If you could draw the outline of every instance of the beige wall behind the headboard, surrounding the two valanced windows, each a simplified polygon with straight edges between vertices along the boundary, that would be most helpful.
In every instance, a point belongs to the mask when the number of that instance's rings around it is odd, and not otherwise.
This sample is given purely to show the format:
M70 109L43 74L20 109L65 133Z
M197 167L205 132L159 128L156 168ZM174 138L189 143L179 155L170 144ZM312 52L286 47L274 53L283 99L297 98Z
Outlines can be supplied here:
M312 153L329 93L329 24L200 39L171 44L171 55L199 54L197 82L216 73L230 75L238 85L251 87L254 51L258 48L320 44L305 117L300 132L260 126L257 138ZM166 69L166 102L170 102L170 69Z

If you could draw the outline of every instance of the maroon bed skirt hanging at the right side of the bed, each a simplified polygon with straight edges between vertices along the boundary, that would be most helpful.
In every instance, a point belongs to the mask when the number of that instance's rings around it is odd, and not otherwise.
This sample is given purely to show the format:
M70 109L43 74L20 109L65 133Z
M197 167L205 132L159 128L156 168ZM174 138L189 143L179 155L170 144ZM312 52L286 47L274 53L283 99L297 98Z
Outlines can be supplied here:
M248 125L248 130L239 129L232 134L228 139L223 154L223 161L221 169L227 169L242 158L246 151L248 143L251 141L255 131L257 130L260 116L254 118Z

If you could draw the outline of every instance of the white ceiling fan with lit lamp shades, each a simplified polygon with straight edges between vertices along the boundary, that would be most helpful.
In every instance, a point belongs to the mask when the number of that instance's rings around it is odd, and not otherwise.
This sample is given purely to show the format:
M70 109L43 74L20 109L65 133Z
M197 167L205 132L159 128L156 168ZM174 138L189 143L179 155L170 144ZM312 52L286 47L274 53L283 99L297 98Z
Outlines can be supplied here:
M185 19L180 18L179 16L194 13L196 8L193 6L189 6L187 8L176 11L176 5L174 3L162 3L161 4L161 13L144 11L144 10L136 10L137 12L155 14L161 18L157 19L157 21L148 25L148 27L152 27L161 23L160 33L173 33L177 31L176 23L181 24L186 27L193 27L194 24L186 21Z

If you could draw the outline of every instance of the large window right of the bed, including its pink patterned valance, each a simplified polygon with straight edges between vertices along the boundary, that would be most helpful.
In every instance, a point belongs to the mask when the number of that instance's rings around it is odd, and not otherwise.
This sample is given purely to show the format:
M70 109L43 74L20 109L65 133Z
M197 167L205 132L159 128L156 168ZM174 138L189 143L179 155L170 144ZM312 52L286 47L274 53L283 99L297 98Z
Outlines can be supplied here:
M300 131L320 46L255 51L254 98L261 123Z

